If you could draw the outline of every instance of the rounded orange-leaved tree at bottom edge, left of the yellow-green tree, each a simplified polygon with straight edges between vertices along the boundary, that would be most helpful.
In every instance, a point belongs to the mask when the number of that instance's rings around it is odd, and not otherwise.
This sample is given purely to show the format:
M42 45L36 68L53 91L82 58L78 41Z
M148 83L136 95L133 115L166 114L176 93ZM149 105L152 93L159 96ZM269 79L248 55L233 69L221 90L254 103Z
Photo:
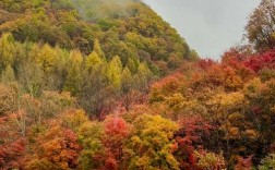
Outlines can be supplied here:
M74 169L77 167L80 145L71 130L60 126L49 129L37 141L26 169Z

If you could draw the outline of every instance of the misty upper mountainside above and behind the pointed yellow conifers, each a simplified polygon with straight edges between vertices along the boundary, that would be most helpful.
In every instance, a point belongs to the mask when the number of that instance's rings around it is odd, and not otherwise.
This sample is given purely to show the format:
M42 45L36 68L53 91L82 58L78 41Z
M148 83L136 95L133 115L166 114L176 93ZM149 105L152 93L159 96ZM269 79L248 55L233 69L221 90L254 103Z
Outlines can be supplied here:
M118 54L123 65L130 57L163 69L168 61L196 58L184 39L139 0L7 0L0 9L0 33L10 32L20 41L79 48L88 54L97 38L107 58Z

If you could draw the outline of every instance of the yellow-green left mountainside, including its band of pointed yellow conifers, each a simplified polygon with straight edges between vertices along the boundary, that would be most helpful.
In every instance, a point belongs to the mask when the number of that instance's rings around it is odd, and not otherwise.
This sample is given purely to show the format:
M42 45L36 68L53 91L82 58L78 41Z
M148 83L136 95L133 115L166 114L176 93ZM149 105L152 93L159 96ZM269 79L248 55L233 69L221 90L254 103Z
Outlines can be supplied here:
M2 82L15 81L36 97L70 92L97 117L125 94L147 93L152 80L196 59L139 0L2 0L0 14Z

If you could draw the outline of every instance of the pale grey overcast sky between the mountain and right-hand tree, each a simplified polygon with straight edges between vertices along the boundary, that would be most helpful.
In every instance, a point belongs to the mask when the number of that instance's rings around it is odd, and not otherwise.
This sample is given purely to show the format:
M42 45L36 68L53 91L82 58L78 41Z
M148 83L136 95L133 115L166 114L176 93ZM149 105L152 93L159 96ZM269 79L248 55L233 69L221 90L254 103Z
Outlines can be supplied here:
M240 42L248 15L261 0L144 0L201 57L218 59Z

